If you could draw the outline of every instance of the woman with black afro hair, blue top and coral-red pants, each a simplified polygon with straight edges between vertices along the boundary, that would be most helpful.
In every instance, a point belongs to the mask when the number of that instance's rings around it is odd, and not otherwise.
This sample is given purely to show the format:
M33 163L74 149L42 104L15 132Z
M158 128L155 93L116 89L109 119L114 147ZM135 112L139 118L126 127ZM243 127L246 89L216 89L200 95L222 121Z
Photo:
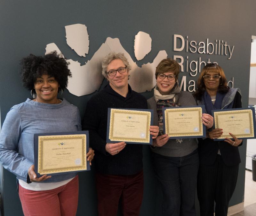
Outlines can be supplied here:
M30 54L21 60L21 81L33 98L15 105L6 115L0 134L0 162L18 179L24 215L76 215L78 175L37 176L34 134L81 130L78 108L58 98L68 84L68 63L56 51ZM93 159L89 148L87 158Z

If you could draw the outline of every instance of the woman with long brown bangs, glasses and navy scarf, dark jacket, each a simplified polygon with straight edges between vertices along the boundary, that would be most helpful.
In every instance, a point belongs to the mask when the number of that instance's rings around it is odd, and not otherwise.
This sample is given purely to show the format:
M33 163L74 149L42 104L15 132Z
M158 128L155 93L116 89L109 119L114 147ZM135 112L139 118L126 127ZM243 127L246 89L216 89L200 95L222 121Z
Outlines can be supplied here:
M205 105L206 112L215 109L241 108L241 92L238 88L229 88L222 68L207 64L197 81L195 93L197 105ZM220 137L222 129L207 132L207 138L199 139L198 153L200 166L197 179L197 195L200 203L200 215L227 215L228 203L235 190L240 155L238 151L242 140L229 133L234 140L214 141Z

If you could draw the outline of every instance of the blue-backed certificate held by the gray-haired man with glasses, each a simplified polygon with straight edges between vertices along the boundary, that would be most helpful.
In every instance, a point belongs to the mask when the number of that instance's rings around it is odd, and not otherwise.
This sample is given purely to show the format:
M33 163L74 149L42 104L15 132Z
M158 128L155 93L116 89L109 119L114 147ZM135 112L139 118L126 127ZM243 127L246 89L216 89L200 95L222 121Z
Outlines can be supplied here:
M107 143L152 144L152 109L108 108Z

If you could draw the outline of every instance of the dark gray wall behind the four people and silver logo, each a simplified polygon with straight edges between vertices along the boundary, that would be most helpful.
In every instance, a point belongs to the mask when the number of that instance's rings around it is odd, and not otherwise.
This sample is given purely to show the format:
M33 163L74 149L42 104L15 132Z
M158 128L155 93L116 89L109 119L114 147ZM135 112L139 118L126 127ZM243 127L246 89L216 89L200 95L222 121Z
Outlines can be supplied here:
M235 86L242 90L243 107L248 105L251 36L256 35L256 2L248 1L0 1L0 105L1 120L4 122L10 108L30 96L20 84L18 76L19 59L44 55L45 46L55 42L67 59L84 64L107 37L119 38L124 49L135 61L133 45L138 31L150 34L151 52L137 64L151 62L159 50L173 55L189 56L189 60L210 58L223 67L228 80L235 78ZM72 51L65 39L66 25L81 23L87 26L90 48L86 58ZM189 40L224 40L235 45L233 56L199 55L173 51L173 34L189 36ZM181 76L191 77L186 72ZM181 77L180 76L180 77ZM188 85L188 84L187 84ZM78 106L81 117L87 101L93 95L76 97L64 91L64 97ZM152 95L144 93L148 98ZM230 205L244 200L246 142L240 147L242 163L235 193ZM161 192L154 177L149 150L144 149L145 187L141 215L160 215ZM15 176L4 170L4 212L5 215L21 215L21 206L16 191ZM91 172L79 176L79 206L77 215L97 215L94 186L94 167ZM198 204L197 204L198 209Z

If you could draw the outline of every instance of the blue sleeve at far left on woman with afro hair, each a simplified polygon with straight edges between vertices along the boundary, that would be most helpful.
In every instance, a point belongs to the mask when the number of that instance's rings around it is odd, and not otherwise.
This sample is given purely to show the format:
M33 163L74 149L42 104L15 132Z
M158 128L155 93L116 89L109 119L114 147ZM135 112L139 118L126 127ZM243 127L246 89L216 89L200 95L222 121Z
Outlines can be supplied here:
M20 115L12 108L6 115L0 134L0 161L5 169L27 182L28 168L34 163L18 152L21 132Z

